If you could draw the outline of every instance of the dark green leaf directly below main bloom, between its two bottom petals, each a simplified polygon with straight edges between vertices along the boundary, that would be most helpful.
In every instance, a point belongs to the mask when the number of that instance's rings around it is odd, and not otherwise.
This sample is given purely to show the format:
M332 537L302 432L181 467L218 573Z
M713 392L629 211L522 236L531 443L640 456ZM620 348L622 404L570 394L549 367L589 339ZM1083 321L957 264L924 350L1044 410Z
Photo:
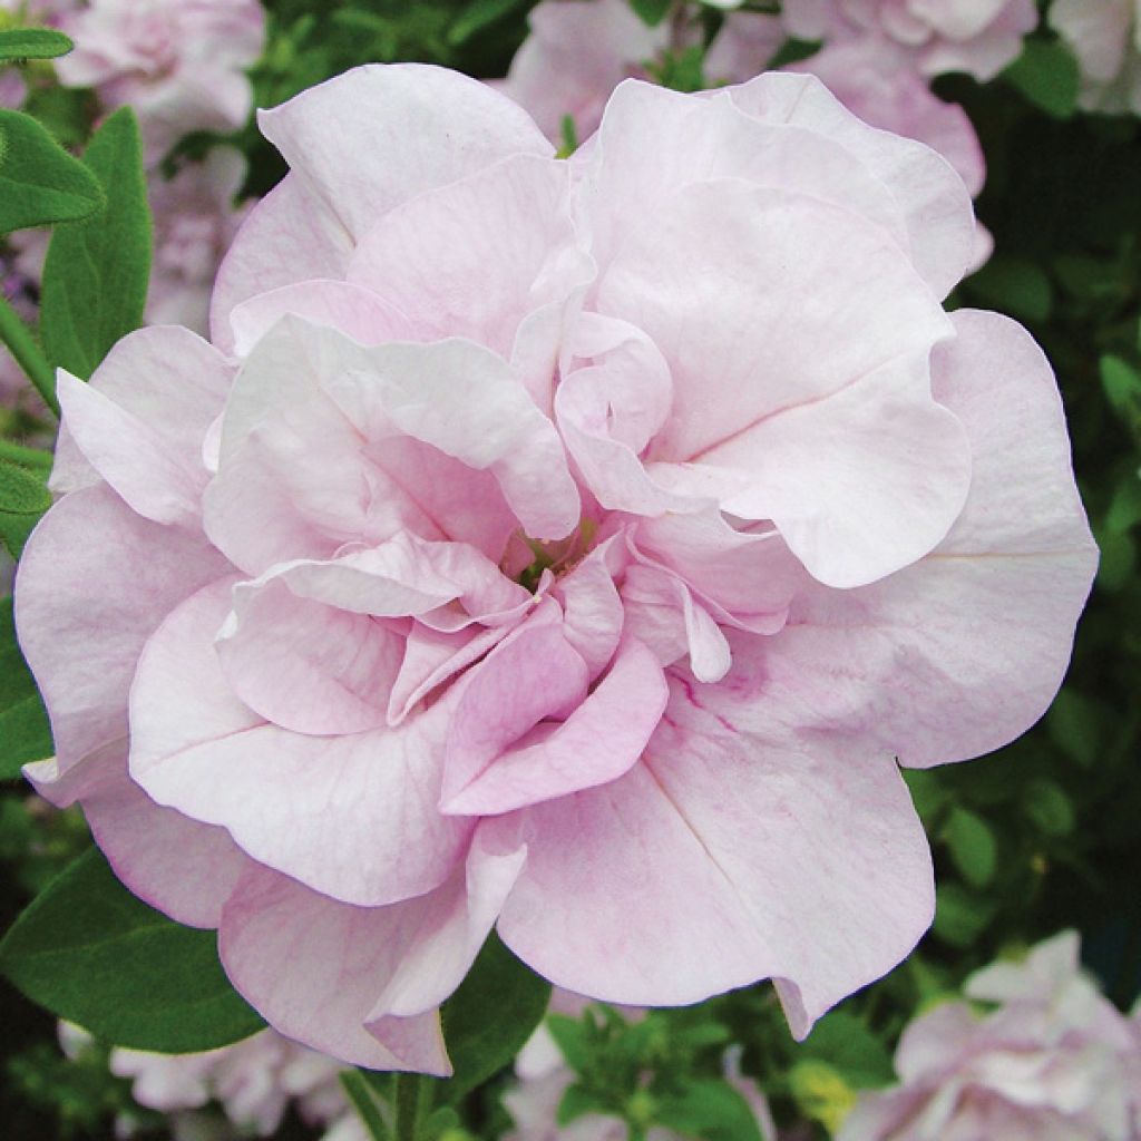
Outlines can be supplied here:
M453 1076L440 1097L455 1101L510 1065L542 1021L551 985L520 963L493 932L468 977L440 1008Z

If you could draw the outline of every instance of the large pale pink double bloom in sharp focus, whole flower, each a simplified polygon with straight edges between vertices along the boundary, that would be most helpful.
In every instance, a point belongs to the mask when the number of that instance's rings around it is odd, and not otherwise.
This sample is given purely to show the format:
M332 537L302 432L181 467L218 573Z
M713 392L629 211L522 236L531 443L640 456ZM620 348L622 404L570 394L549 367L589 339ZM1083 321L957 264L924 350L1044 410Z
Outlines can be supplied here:
M780 73L628 80L568 161L420 65L261 127L212 341L60 374L29 775L346 1061L447 1073L493 926L806 1034L930 922L898 762L1041 715L1097 561L1043 354L941 307L962 181Z

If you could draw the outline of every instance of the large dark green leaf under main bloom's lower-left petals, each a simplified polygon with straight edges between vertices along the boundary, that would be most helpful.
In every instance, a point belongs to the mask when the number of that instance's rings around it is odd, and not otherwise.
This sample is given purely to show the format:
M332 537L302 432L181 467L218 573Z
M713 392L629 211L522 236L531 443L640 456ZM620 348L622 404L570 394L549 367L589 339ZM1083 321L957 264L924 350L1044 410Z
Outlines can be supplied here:
M57 1018L136 1050L211 1050L265 1025L222 972L216 933L136 899L97 848L15 922L0 972Z

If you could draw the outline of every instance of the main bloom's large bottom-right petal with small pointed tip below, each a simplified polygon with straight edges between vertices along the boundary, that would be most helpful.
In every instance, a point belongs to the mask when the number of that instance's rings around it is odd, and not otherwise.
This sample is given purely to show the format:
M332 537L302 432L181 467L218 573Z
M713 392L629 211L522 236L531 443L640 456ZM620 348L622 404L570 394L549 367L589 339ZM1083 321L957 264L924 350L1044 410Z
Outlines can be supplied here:
M890 758L782 739L739 657L722 686L672 681L622 779L502 818L528 855L499 930L608 1002L691 1003L771 976L802 1037L911 950L930 856Z

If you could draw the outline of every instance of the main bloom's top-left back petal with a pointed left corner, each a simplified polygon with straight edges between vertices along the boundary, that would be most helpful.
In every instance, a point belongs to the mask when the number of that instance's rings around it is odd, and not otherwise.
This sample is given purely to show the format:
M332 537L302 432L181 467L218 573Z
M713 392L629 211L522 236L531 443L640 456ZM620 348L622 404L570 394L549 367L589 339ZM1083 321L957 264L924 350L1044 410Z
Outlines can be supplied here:
M357 240L424 191L509 155L552 152L505 96L424 64L355 67L260 112L258 123Z

